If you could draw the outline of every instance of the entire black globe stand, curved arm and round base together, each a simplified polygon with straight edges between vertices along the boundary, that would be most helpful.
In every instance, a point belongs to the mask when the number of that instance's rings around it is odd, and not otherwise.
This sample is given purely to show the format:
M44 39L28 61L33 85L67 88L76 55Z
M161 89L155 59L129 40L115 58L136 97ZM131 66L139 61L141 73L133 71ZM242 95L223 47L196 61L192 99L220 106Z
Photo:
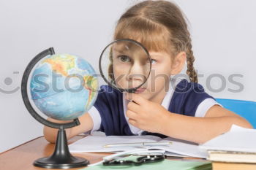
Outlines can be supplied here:
M77 125L80 125L78 118L76 118L74 121L70 123L50 122L49 120L46 120L45 118L41 117L31 106L31 103L29 101L27 84L28 84L31 70L42 58L45 58L47 55L53 55L53 54L55 54L53 47L50 47L48 50L44 50L41 53L39 53L37 56L35 56L30 61L29 65L26 67L22 77L22 82L21 82L21 95L23 98L23 102L26 106L26 109L28 109L29 113L31 114L31 116L33 116L34 119L36 119L37 121L39 121L39 123L42 123L43 125L46 125L50 128L59 129L53 155L47 158L37 159L36 161L34 161L34 166L39 166L45 169L70 169L70 168L77 168L81 166L87 166L89 164L89 161L86 160L85 158L72 156L67 146L67 136L66 136L66 131L64 129L72 128Z

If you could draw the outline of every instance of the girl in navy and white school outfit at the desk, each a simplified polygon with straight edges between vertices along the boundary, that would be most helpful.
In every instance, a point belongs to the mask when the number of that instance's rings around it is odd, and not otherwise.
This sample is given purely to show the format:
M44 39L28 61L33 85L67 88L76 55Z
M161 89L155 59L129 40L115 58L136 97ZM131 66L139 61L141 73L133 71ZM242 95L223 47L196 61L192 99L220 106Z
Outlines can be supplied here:
M175 4L135 4L118 20L114 39L135 39L144 45L153 61L151 74L138 93L129 94L135 102L102 85L94 107L79 118L81 124L67 129L68 139L86 131L103 131L106 135L154 134L203 143L225 133L232 124L252 128L197 84L187 23ZM181 72L186 61L190 81L176 82L171 77ZM55 142L56 131L45 127L45 139Z

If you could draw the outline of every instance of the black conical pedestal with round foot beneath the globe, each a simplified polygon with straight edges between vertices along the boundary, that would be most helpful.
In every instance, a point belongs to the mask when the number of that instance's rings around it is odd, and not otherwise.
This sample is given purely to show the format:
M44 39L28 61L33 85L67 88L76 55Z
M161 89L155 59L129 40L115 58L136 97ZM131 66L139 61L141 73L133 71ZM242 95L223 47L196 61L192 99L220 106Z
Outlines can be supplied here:
M69 147L67 146L66 132L62 126L58 132L53 155L34 161L34 166L45 169L71 169L87 166L88 164L89 161L85 158L74 157L70 154Z

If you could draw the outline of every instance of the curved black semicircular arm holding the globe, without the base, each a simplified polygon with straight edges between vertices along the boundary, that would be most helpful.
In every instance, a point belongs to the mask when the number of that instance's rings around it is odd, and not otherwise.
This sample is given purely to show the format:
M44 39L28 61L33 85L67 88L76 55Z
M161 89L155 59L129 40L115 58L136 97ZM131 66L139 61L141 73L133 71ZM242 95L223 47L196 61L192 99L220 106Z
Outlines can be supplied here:
M53 55L54 50L53 47L50 47L48 50L44 50L41 53L39 53L37 56L35 56L29 63L29 65L26 67L25 72L23 73L22 82L21 82L21 95L24 101L24 104L26 106L26 109L28 109L29 113L37 120L39 123L42 123L43 125L46 125L50 128L72 128L76 125L80 125L80 122L78 118L74 119L73 122L70 123L53 123L49 120L46 120L45 118L41 117L31 106L31 103L29 101L28 91L27 91L27 85L29 80L29 74L31 73L31 70L34 68L34 66L40 61L42 58L45 58L47 55Z

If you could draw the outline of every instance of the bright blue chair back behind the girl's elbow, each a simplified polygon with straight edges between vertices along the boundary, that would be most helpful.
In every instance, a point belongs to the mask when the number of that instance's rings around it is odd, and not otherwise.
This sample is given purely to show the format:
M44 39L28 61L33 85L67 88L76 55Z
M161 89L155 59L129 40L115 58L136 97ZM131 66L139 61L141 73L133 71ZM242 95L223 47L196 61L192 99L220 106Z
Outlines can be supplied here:
M256 102L224 98L216 98L216 101L222 104L225 109L229 109L241 117L244 117L252 124L253 128L256 128Z

